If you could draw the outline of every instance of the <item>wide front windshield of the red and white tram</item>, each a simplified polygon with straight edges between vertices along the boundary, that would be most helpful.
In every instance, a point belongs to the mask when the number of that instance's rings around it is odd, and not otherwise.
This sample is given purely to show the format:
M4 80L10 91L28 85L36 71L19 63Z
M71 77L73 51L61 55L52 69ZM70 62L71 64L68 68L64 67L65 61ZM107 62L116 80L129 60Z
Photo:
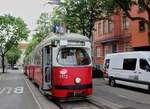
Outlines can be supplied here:
M59 50L57 61L66 66L82 66L91 63L87 51L83 48L62 48Z

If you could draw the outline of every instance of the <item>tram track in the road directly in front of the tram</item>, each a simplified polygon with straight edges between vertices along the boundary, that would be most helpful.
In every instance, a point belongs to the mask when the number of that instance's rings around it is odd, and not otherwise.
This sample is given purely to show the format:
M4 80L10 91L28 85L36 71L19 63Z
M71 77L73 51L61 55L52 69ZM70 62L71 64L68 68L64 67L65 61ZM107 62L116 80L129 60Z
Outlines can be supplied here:
M110 109L107 107L104 108L103 106L97 105L89 99L64 102L52 100L52 102L55 105L57 105L60 109Z

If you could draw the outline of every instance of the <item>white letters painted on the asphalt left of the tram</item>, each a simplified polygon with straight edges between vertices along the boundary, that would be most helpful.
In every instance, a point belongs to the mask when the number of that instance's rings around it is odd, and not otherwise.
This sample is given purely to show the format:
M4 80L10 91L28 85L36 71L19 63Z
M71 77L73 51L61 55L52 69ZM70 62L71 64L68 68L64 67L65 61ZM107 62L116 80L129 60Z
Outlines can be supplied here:
M0 95L1 94L23 94L24 87L4 87L0 88Z

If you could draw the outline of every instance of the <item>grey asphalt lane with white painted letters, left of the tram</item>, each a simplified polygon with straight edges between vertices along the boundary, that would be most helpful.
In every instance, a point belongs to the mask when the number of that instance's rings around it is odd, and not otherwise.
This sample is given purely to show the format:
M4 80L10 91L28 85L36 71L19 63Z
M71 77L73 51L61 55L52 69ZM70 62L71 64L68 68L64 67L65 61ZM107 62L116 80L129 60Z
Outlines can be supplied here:
M0 75L0 109L40 109L20 71Z

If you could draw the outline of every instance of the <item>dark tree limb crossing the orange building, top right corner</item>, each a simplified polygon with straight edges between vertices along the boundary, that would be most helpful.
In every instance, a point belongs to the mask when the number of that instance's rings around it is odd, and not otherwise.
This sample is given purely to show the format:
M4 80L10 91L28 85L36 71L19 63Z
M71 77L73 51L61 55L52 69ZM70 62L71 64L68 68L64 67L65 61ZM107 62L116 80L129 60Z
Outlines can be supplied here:
M150 44L150 0L113 0L112 2L115 2L132 21L139 20L145 22L148 28L147 36ZM143 8L148 17L146 18L145 16L133 16L131 14L133 5L137 5L138 7Z

